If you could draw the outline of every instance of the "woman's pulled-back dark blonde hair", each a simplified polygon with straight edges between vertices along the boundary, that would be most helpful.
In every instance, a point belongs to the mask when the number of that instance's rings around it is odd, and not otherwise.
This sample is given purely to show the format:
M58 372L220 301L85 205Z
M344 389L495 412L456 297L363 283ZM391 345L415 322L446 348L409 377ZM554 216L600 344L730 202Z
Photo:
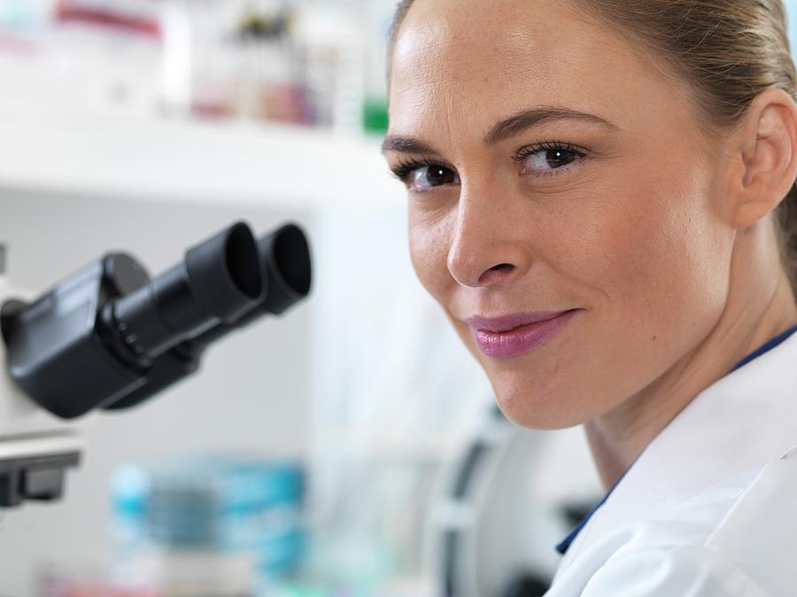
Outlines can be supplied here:
M577 8L654 52L693 89L718 132L738 124L765 89L797 99L781 0L572 0ZM401 0L391 27L389 64L414 0ZM797 187L776 213L781 254L797 293Z

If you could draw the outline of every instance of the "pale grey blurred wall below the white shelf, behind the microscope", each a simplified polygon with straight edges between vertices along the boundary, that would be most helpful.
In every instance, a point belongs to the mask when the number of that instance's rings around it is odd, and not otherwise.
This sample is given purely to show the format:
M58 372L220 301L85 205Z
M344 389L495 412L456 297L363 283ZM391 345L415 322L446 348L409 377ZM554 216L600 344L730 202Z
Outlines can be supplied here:
M257 233L306 213L235 205L76 199L0 190L0 242L9 244L12 282L44 291L112 249L132 252L157 274L191 244L244 219ZM108 476L121 461L213 449L303 457L309 425L310 306L259 322L205 358L199 375L123 415L97 417L66 500L5 513L0 526L0 595L34 595L35 567L46 560L103 562L108 536Z

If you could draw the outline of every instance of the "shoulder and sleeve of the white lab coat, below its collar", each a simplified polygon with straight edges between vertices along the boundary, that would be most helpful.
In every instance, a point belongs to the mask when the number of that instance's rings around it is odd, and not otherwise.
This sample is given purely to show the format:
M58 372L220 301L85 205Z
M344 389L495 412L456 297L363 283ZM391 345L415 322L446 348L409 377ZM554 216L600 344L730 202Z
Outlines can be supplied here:
M735 474L589 547L550 597L792 596L797 453Z

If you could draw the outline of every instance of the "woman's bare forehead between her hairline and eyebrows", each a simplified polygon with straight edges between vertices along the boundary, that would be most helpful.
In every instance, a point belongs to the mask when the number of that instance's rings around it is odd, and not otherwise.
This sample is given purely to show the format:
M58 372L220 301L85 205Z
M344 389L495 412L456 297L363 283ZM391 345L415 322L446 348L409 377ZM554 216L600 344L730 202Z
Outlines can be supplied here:
M483 132L535 105L628 121L667 84L646 51L569 0L415 0L393 54L391 129Z

